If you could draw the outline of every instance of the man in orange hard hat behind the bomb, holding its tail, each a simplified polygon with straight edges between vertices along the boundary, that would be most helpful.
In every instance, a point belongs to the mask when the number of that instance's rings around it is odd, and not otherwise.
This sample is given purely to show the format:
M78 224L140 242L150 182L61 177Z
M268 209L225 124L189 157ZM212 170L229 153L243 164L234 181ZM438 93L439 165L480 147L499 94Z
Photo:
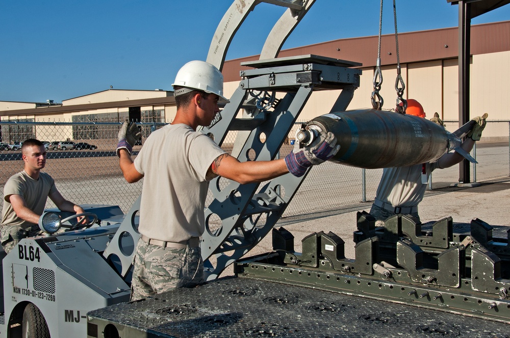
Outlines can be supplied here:
M414 99L407 100L405 114L425 118L423 106ZM476 123L461 145L468 153L473 149L475 141L480 139L481 132L486 126L484 117L476 117L473 120ZM443 121L437 112L430 121L443 126ZM419 220L418 204L423 200L430 173L437 168L448 168L460 163L463 159L461 154L451 152L444 154L433 163L384 168L370 214L377 220L386 220L396 214L409 214Z

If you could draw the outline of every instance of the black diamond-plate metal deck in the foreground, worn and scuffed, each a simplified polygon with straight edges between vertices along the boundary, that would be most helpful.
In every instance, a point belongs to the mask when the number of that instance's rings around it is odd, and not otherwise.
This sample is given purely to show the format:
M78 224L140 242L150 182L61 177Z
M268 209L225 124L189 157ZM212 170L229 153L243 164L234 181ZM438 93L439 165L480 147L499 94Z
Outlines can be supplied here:
M88 317L99 336L113 325L122 337L510 337L508 324L244 277Z

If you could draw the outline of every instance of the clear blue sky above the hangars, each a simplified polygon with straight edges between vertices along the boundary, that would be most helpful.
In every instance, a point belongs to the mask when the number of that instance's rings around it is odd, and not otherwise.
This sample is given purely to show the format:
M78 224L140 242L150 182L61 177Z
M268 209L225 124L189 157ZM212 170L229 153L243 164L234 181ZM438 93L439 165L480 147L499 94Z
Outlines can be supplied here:
M179 68L205 60L232 0L3 0L0 101L61 102L109 89L172 90ZM317 0L285 48L378 34L379 0ZM393 2L382 34L394 34ZM446 0L397 0L398 32L458 25ZM227 60L259 54L284 8L261 4L244 22ZM472 24L510 20L510 5ZM376 58L376 55L374 55ZM355 60L352 60L355 61Z

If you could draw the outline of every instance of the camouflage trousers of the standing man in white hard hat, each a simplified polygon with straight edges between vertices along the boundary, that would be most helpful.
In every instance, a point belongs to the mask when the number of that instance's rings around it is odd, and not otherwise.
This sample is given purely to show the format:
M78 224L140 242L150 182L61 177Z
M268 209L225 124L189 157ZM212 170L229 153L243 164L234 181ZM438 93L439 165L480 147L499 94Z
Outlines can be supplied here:
M163 248L140 239L133 266L132 301L203 283L203 262L199 246Z

